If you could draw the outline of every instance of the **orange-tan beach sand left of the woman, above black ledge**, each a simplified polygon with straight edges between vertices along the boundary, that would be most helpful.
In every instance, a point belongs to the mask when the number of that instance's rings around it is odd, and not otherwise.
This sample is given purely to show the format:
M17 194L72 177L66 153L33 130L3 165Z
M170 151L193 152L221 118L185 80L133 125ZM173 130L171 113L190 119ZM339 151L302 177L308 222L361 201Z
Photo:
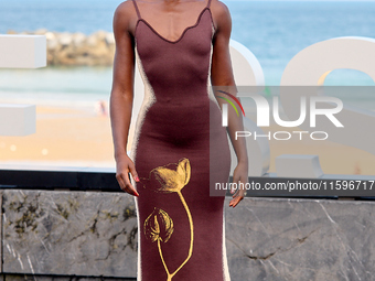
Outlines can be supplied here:
M110 119L93 110L36 107L36 133L0 137L1 163L114 166Z

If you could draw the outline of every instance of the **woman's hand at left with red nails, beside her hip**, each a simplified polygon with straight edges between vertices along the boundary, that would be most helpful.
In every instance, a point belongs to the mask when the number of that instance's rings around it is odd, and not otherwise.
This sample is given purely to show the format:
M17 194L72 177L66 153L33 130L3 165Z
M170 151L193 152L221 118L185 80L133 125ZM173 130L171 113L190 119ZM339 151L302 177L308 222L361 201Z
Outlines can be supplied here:
M139 182L135 163L128 155L116 159L116 179L121 190L130 195L139 196L137 190L131 185L129 173L136 182Z

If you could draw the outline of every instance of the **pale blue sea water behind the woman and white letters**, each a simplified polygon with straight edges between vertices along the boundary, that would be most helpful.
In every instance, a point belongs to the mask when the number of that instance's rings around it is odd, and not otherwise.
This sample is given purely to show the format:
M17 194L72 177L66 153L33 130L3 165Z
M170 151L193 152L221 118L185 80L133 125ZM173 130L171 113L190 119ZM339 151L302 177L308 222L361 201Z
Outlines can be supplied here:
M119 0L2 0L0 33L8 30L113 31ZM288 62L304 47L336 36L375 37L375 2L223 1L233 21L232 39L248 47L264 68L266 84L279 85ZM22 82L22 83L20 83ZM374 85L365 74L332 72L328 85ZM0 101L13 98L108 98L110 67L0 69Z

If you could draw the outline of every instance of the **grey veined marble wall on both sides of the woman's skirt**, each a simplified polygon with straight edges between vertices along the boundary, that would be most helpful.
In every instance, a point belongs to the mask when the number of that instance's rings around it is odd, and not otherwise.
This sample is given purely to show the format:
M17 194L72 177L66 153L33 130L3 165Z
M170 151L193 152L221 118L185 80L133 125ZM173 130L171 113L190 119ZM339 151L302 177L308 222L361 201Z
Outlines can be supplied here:
M135 280L129 195L2 190L0 198L3 280ZM229 201L232 281L375 280L374 202L247 197L233 209Z

